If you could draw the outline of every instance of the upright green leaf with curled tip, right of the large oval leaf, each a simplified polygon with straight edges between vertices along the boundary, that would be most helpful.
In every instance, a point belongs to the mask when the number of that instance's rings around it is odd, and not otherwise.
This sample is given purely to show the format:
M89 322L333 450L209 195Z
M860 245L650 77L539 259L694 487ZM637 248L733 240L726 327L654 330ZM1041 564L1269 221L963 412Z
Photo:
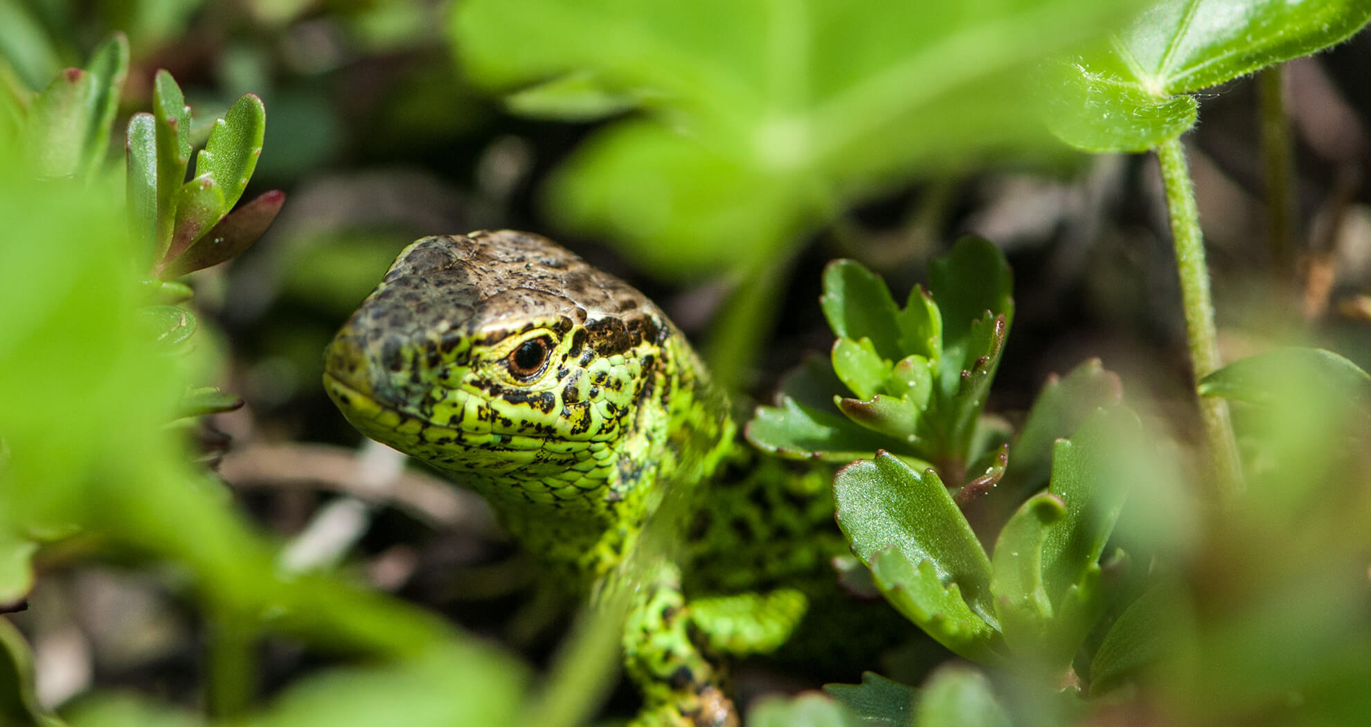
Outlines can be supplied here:
M1041 649L1050 628L1053 606L1042 583L1042 550L1050 527L1065 513L1061 498L1039 492L1019 508L995 540L990 582L995 616L1005 642L1020 656Z

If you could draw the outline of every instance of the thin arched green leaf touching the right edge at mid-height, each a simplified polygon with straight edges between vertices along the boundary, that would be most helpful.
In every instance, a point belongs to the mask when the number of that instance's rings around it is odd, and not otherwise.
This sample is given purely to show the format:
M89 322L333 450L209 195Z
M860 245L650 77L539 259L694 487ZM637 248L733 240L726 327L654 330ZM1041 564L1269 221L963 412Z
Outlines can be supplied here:
M1235 361L1200 381L1202 396L1271 405L1296 387L1322 390L1327 398L1348 396L1363 403L1371 396L1371 374L1323 348L1276 348Z

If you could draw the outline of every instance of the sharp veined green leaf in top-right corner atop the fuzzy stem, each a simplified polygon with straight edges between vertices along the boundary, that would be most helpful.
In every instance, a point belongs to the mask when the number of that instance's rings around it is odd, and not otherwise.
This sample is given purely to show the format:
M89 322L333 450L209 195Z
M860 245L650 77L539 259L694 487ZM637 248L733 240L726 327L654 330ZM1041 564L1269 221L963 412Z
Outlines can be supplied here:
M1367 21L1367 0L1161 0L1054 78L1064 97L1049 122L1084 151L1143 151L1194 123L1194 99L1178 95L1335 45Z

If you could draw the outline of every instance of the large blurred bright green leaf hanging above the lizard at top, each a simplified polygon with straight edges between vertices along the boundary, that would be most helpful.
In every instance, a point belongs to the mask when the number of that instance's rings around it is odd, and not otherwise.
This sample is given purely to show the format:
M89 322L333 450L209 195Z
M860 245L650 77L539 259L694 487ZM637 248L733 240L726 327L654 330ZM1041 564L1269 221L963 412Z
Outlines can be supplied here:
M1036 148L1028 73L1130 7L476 0L455 5L451 34L469 77L499 92L579 73L651 99L651 122L595 136L550 199L559 219L680 277L755 270L884 187Z

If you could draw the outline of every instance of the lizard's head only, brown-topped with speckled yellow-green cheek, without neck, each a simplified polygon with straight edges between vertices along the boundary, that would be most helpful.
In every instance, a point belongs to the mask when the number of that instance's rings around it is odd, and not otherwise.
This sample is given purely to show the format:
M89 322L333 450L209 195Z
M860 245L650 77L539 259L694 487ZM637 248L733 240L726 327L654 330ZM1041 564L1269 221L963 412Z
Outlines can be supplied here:
M673 336L546 237L424 237L333 339L324 383L363 433L483 494L569 505L611 498L627 442L666 425Z

